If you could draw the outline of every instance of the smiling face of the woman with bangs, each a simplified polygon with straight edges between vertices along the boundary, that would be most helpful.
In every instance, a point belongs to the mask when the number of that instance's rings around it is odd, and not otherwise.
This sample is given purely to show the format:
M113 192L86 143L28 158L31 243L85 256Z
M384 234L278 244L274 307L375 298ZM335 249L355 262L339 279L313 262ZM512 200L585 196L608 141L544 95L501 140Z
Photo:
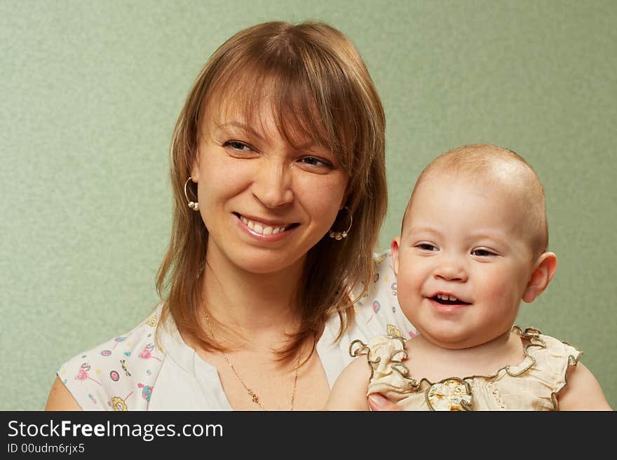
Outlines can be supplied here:
M191 170L208 260L250 273L299 269L344 205L348 176L337 156L308 135L287 142L269 101L253 117L240 107L233 100L206 107Z

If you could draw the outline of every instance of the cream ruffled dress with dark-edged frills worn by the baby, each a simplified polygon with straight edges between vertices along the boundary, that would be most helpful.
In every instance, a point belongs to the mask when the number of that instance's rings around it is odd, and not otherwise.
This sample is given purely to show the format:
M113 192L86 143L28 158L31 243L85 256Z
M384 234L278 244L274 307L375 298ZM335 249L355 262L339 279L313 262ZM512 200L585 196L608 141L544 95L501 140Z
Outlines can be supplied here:
M583 354L534 328L520 330L525 358L489 376L450 377L439 382L407 377L405 340L394 334L353 341L352 356L367 355L369 393L381 393L405 410L557 410L568 367Z

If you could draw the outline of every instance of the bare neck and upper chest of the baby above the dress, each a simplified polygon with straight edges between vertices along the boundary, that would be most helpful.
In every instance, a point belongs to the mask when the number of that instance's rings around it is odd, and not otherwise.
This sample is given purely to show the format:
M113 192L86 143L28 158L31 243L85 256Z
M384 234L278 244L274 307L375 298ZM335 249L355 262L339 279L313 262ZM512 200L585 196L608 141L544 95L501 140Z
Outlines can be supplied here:
M409 357L405 365L410 377L426 378L433 383L448 377L491 375L506 365L518 365L524 359L520 337L507 332L485 344L447 349L419 335L407 341Z

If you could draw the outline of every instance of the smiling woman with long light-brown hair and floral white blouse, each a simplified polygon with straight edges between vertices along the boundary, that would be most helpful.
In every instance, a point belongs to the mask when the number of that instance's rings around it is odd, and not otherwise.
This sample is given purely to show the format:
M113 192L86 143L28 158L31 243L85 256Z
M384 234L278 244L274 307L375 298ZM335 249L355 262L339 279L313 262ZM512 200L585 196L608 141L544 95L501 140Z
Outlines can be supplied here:
M322 408L351 340L411 329L388 255L372 258L384 131L337 29L268 22L227 40L173 135L163 302L65 363L46 409Z

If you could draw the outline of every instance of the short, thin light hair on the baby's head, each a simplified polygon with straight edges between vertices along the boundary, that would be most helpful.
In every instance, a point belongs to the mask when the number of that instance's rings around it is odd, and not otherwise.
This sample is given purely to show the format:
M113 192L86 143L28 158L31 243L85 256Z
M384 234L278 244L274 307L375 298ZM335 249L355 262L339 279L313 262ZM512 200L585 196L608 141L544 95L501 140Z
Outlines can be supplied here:
M548 220L544 187L533 168L515 151L491 144L471 144L457 147L431 161L416 180L405 215L411 208L419 185L432 175L453 173L473 181L483 181L504 187L516 194L519 210L526 216L525 229L530 236L534 256L548 248ZM405 215L402 224L405 225Z

